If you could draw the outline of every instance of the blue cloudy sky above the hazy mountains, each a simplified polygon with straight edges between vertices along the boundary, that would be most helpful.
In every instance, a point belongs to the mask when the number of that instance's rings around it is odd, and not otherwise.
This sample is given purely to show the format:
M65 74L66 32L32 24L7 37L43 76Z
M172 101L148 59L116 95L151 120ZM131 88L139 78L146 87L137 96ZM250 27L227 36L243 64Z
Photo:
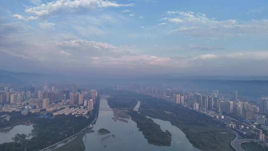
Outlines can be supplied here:
M1 0L0 69L268 75L268 1Z

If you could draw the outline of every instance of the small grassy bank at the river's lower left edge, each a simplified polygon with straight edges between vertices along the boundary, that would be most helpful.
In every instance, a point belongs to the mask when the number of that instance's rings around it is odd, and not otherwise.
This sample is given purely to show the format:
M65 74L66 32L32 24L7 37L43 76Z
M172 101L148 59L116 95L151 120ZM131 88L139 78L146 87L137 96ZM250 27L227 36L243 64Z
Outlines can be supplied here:
M56 151L84 151L85 146L83 143L83 136L84 135L77 136L73 141L57 149Z

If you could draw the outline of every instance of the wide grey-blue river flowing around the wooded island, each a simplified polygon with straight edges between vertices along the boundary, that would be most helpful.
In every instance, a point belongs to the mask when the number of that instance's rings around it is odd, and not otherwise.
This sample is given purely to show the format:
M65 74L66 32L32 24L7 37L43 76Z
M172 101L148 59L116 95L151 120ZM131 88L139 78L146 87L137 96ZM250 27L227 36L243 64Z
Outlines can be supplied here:
M139 103L135 108L139 107ZM100 108L110 109L107 100L101 99ZM200 151L186 138L185 134L170 122L153 119L160 125L163 131L168 130L172 134L170 147L158 147L148 144L137 125L131 119L115 121L113 111L99 111L99 117L94 125L94 133L85 134L83 142L85 151ZM105 128L111 132L108 135L98 135L97 131Z

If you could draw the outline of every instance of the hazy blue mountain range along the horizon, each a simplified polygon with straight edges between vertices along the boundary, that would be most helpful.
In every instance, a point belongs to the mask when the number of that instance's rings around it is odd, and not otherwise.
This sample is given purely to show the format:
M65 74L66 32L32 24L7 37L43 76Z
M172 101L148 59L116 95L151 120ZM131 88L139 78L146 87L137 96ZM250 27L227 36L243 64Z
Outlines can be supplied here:
M115 85L123 83L161 83L183 89L218 89L224 93L234 90L239 95L268 95L268 76L154 76L140 78L70 77L65 75L45 75L36 73L16 73L0 70L0 83L76 83L80 85Z

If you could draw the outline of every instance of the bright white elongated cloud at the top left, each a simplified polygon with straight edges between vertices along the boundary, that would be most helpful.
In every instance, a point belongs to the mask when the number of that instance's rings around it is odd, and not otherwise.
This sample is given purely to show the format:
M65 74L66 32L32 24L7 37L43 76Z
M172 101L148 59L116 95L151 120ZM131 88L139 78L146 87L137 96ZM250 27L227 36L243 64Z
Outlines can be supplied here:
M134 6L134 4L119 4L116 1L109 0L57 0L54 2L48 2L45 4L27 8L25 12L30 14L31 16L30 18L25 18L33 20L39 17L49 16L51 14L58 14L61 12L74 13L83 10L92 10L96 8L127 6ZM17 16L17 18L19 19L19 16Z

